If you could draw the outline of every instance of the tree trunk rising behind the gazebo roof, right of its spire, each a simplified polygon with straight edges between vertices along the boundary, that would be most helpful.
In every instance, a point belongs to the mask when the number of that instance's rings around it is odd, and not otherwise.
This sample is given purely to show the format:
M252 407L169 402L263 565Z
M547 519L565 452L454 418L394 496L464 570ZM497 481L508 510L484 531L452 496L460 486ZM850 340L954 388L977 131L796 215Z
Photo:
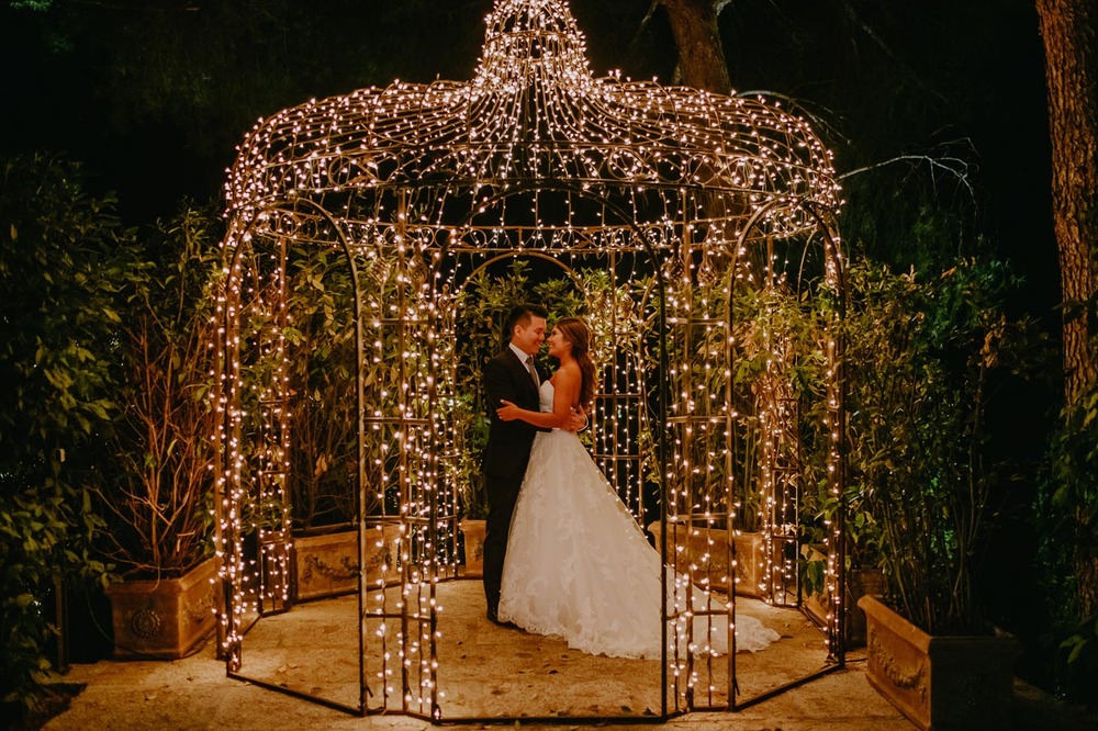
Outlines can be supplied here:
M727 0L726 0L727 1ZM659 0L679 47L679 83L727 94L732 89L717 30L721 0Z

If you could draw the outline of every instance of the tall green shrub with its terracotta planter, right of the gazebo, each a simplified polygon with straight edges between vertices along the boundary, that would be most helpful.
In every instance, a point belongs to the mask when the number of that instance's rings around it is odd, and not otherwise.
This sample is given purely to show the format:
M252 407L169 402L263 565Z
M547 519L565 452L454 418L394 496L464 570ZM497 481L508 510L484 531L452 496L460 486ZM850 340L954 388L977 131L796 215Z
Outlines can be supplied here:
M1002 728L1019 645L987 623L974 574L998 484L987 403L1024 364L1024 323L1001 312L1010 281L964 261L927 283L861 263L850 282L851 477L887 583L884 601L859 601L867 676L921 728Z

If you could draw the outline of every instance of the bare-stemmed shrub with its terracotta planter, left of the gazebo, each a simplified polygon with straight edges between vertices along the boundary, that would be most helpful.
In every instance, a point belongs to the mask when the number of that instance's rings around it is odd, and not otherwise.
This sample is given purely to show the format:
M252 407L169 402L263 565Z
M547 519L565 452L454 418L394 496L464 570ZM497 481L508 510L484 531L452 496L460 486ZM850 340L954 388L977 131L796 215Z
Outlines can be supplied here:
M116 363L124 387L96 491L117 656L179 657L214 628L212 558L216 217L187 207L158 224L121 289Z

